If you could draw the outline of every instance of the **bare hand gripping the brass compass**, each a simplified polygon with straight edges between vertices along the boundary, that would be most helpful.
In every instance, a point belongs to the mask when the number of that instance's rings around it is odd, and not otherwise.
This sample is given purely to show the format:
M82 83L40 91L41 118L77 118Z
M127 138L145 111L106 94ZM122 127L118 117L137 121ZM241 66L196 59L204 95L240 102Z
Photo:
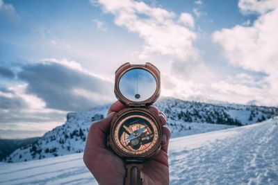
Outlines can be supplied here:
M124 160L106 147L112 118L124 108L122 103L116 101L108 110L108 116L92 124L88 132L83 161L99 184L124 184ZM152 105L149 109L161 118L162 125L166 124L165 115L157 107ZM169 184L167 150L170 136L170 130L163 127L161 150L158 155L144 163L141 170L142 184Z

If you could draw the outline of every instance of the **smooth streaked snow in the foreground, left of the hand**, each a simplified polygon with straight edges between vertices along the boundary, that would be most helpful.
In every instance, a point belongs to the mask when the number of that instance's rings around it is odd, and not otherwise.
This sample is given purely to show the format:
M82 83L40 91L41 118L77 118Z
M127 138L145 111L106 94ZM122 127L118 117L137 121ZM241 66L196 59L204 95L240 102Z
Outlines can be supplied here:
M0 167L0 184L96 183L82 160L83 154L67 155Z

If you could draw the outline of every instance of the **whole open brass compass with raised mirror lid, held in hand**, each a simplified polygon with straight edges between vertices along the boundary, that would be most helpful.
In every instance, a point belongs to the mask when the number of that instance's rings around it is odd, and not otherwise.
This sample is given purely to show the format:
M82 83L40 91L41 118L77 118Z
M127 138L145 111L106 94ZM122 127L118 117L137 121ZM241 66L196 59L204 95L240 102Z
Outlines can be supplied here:
M142 183L143 162L161 148L161 120L148 109L160 96L160 82L160 72L149 62L125 63L115 72L115 96L126 109L113 117L109 141L125 161L125 184L131 184L131 168L137 168L137 184Z

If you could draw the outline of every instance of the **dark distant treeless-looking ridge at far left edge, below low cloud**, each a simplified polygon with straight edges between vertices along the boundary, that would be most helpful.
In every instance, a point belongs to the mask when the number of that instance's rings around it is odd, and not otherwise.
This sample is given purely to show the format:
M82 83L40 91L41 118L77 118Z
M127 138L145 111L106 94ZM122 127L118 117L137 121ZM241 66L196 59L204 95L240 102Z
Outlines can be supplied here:
M0 139L0 161L10 155L17 148L28 146L38 139L39 137L27 139Z

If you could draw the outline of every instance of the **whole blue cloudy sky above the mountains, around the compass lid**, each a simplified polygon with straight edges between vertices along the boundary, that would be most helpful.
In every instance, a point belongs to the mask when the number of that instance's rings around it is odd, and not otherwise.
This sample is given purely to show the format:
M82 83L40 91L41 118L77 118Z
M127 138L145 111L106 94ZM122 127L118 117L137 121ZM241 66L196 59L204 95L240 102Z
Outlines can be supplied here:
M0 137L42 136L116 100L152 62L161 96L278 105L277 0L0 0Z

